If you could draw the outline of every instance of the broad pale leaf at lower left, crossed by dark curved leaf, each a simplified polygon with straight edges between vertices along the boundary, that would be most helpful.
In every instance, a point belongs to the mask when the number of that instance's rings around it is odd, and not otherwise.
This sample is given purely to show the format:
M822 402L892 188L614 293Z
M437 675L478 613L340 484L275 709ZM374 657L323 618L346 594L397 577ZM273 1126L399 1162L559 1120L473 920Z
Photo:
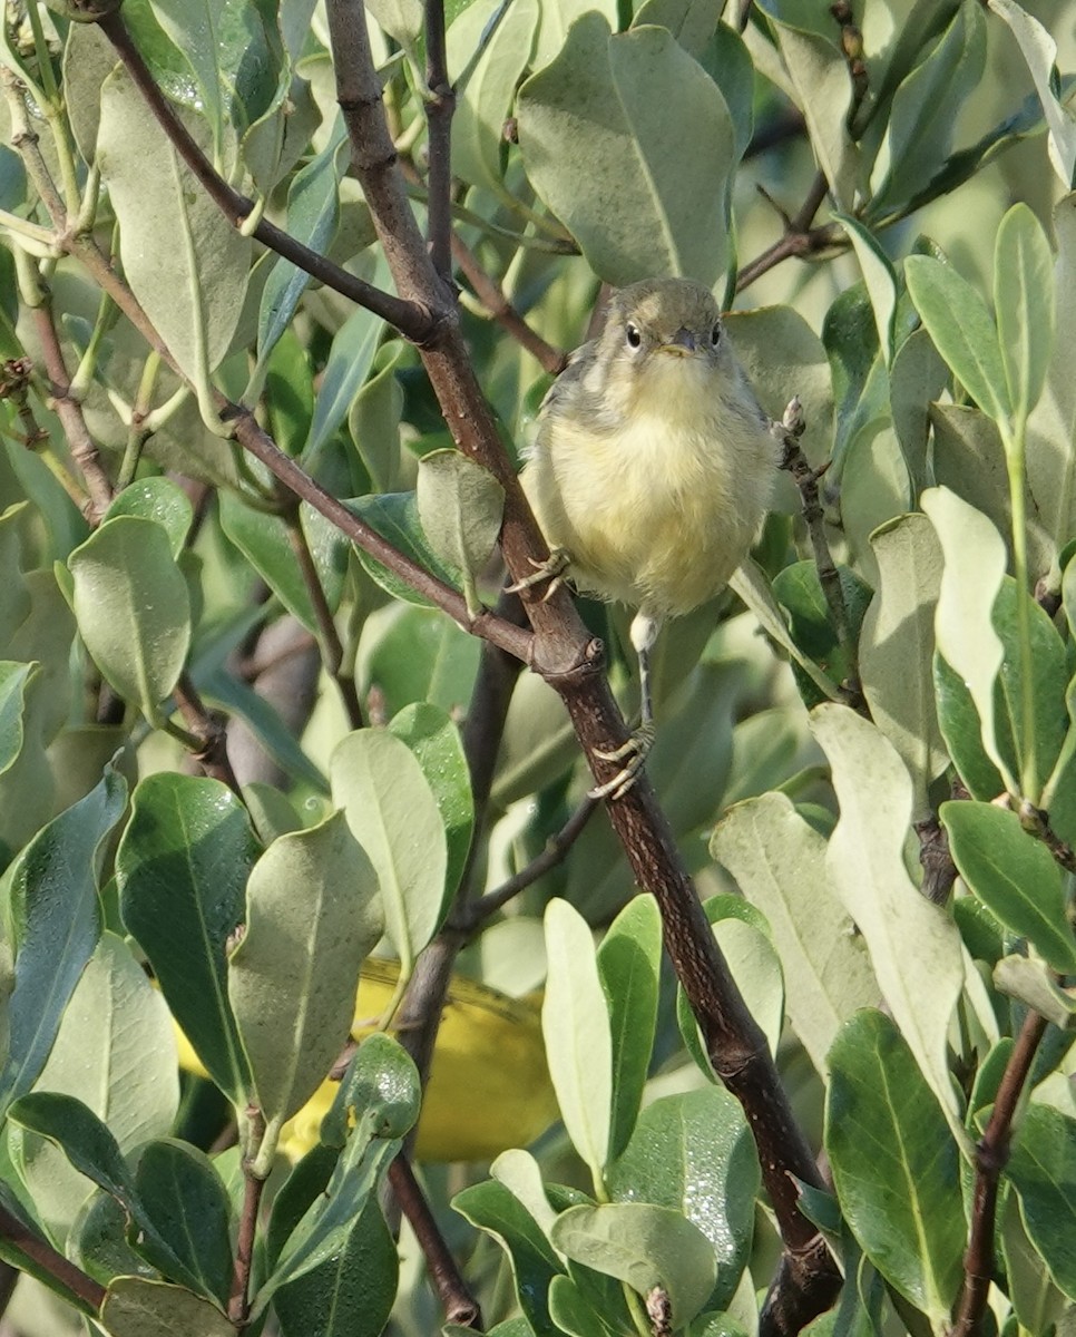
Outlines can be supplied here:
M179 1104L172 1020L114 933L102 935L86 964L37 1090L82 1100L107 1123L124 1155L172 1127ZM35 1134L13 1130L11 1154L37 1219L63 1245L92 1186Z

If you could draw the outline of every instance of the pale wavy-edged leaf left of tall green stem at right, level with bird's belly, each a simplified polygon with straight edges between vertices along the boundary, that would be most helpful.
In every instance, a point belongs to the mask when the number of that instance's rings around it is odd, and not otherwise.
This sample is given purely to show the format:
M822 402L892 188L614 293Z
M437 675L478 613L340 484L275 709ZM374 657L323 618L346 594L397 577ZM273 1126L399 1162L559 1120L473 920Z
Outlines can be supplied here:
M948 488L924 492L922 508L945 558L934 616L938 652L972 695L984 751L1016 790L994 734L994 683L1004 652L990 615L1005 575L1005 544L981 512Z

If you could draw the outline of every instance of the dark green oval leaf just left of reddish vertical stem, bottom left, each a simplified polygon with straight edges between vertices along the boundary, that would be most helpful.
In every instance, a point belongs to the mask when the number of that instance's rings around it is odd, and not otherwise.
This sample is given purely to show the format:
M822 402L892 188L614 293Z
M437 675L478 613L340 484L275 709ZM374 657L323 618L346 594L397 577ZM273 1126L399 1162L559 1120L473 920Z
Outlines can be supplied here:
M209 1157L187 1142L151 1142L139 1157L135 1191L160 1238L198 1278L199 1293L226 1306L233 1275L230 1203ZM168 1259L162 1262L167 1270Z

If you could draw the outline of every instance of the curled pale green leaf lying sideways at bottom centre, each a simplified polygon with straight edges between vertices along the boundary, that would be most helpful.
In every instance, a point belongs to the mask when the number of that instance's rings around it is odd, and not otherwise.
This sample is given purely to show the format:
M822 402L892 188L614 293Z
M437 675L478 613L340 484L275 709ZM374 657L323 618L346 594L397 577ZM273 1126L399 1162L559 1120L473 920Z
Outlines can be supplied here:
M716 1265L710 1241L679 1211L643 1202L569 1207L553 1243L575 1262L626 1282L640 1296L660 1286L683 1328L710 1298Z

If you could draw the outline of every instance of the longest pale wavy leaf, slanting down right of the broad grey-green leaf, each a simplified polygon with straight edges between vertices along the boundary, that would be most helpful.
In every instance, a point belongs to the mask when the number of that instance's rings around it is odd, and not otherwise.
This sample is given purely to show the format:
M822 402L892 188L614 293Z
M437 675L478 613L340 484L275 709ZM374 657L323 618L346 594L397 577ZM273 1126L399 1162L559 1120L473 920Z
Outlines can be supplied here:
M841 805L826 854L830 881L866 939L905 1043L962 1135L948 1063L949 1023L964 987L962 948L953 921L920 894L905 866L912 781L874 725L846 706L819 706L813 729ZM914 953L908 943L917 944Z

